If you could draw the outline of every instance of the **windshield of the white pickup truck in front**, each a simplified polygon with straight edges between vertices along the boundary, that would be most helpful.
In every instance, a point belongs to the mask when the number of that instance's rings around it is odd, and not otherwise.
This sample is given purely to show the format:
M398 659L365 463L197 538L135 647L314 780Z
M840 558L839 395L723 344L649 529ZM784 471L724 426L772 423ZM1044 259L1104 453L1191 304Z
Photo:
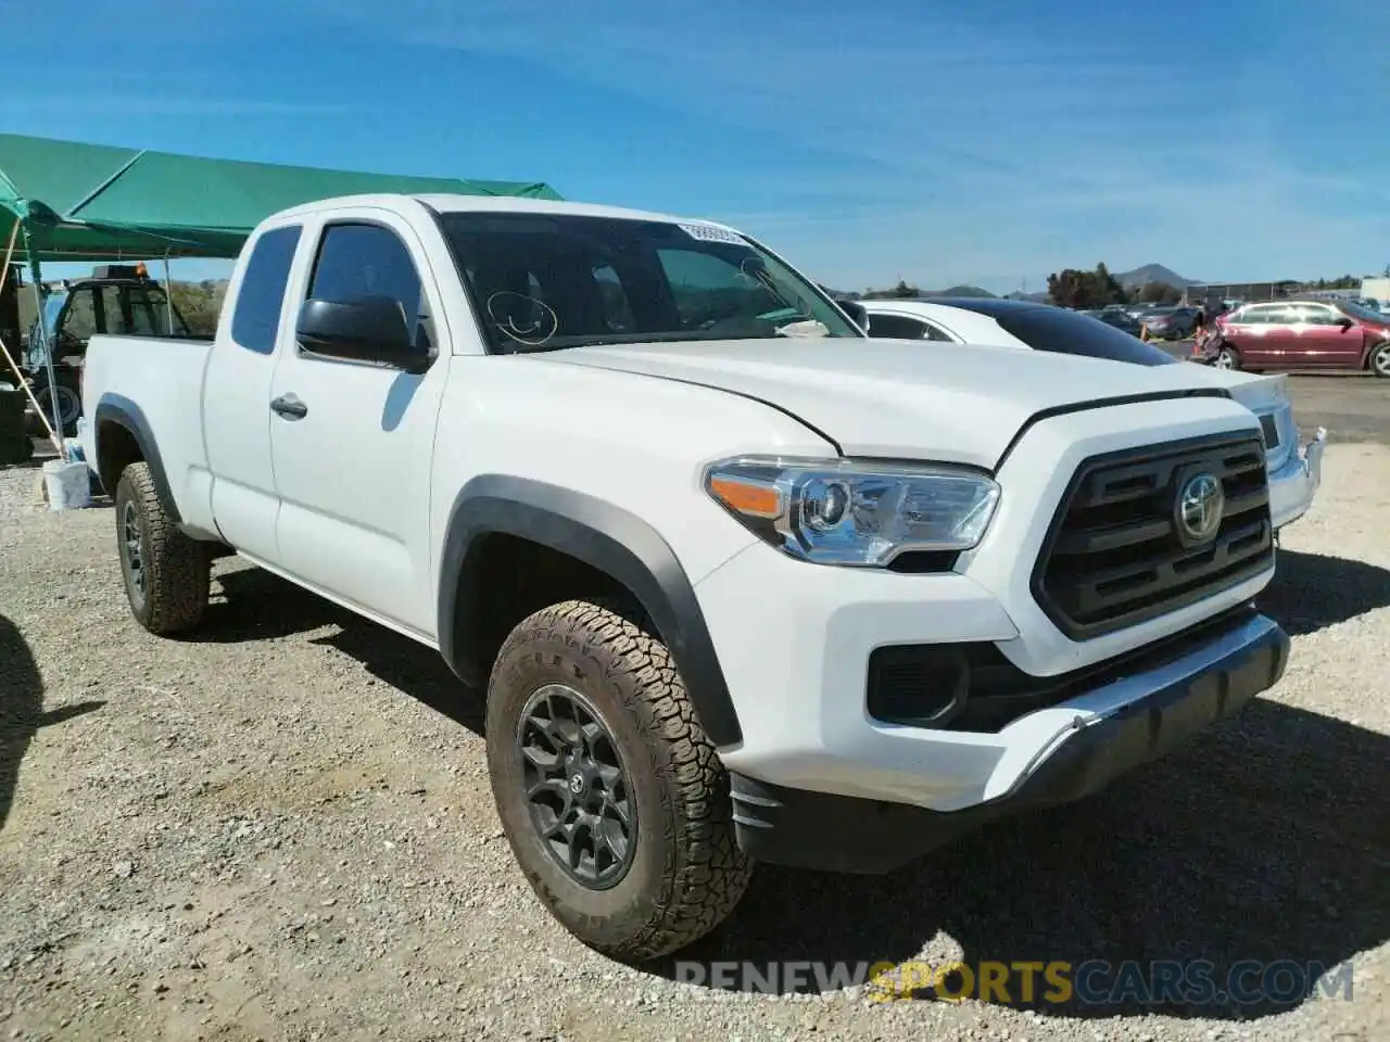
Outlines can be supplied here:
M439 222L492 352L863 338L773 254L710 225L492 213Z

